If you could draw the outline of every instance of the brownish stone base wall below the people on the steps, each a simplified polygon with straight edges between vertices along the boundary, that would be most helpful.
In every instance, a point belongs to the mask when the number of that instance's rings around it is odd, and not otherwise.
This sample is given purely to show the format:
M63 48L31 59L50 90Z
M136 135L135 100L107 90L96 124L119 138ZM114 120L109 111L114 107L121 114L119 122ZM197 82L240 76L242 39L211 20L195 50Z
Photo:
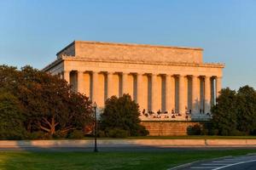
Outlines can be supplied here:
M184 136L189 127L201 125L201 122L141 122L149 131L149 136Z

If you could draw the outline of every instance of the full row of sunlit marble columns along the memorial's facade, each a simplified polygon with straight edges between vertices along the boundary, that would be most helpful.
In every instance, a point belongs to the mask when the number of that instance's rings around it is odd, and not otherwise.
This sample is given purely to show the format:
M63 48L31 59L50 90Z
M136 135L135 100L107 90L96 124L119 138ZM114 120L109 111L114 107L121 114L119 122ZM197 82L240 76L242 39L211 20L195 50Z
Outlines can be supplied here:
M129 72L122 72L121 73L121 94L127 94L128 93L128 75ZM136 73L137 78L137 86L135 88L137 95L136 95L136 101L138 104L143 103L143 73ZM151 111L158 111L160 108L158 108L157 105L157 94L158 90L158 82L157 82L157 74L148 74L151 77L151 98L148 100L151 102ZM64 79L67 82L70 82L70 71L64 71L63 75ZM90 98L92 101L97 101L98 96L98 84L99 84L99 72L97 71L90 71L91 76L91 95ZM192 83L192 90L191 90L191 112L192 113L200 113L201 108L201 90L203 90L203 110L206 113L210 113L211 105L215 103L215 100L218 97L218 92L221 89L221 77L208 77L208 76L200 76L200 75L164 75L165 77L165 105L166 105L166 111L171 112L175 111L176 108L176 102L178 103L178 112L181 114L184 114L186 112L186 108L188 108L188 102L185 102L186 96L188 96L188 93L186 87L188 87L188 84L185 84L185 77L191 77L191 83ZM176 93L175 89L175 77L178 78L178 93ZM203 77L203 89L201 89L201 80L200 77ZM214 84L212 84L211 78L214 78ZM77 71L77 90L81 92L81 89L83 88L83 80L84 80L84 71ZM107 97L111 97L113 95L113 72L107 72ZM213 88L212 88L213 87ZM212 90L214 92L212 93ZM178 95L178 101L176 101L175 95ZM213 95L213 96L212 96ZM188 110L188 109L187 109Z

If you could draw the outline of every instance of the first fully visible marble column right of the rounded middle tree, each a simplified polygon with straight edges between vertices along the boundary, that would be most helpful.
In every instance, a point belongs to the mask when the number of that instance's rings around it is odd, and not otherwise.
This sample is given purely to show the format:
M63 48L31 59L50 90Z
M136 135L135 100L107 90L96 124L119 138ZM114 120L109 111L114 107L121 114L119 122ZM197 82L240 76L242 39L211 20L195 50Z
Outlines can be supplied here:
M152 74L151 76L151 111L156 113L157 108L157 75Z

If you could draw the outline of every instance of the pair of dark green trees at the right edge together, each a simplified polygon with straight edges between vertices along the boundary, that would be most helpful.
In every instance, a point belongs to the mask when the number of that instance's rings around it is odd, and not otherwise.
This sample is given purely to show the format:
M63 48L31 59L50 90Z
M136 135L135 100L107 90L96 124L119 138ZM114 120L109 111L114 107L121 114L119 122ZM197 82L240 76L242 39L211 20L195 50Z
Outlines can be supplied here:
M236 92L222 89L212 107L212 133L218 135L256 134L256 91L249 86Z

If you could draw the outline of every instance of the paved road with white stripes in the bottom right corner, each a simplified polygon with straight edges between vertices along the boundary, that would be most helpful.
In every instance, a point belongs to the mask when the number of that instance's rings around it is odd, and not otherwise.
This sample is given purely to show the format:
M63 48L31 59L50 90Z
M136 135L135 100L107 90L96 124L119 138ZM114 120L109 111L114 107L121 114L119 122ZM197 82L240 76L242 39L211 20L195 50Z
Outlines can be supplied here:
M201 161L193 163L188 167L180 168L182 170L255 170L256 169L256 155L236 156L223 158L212 161Z

